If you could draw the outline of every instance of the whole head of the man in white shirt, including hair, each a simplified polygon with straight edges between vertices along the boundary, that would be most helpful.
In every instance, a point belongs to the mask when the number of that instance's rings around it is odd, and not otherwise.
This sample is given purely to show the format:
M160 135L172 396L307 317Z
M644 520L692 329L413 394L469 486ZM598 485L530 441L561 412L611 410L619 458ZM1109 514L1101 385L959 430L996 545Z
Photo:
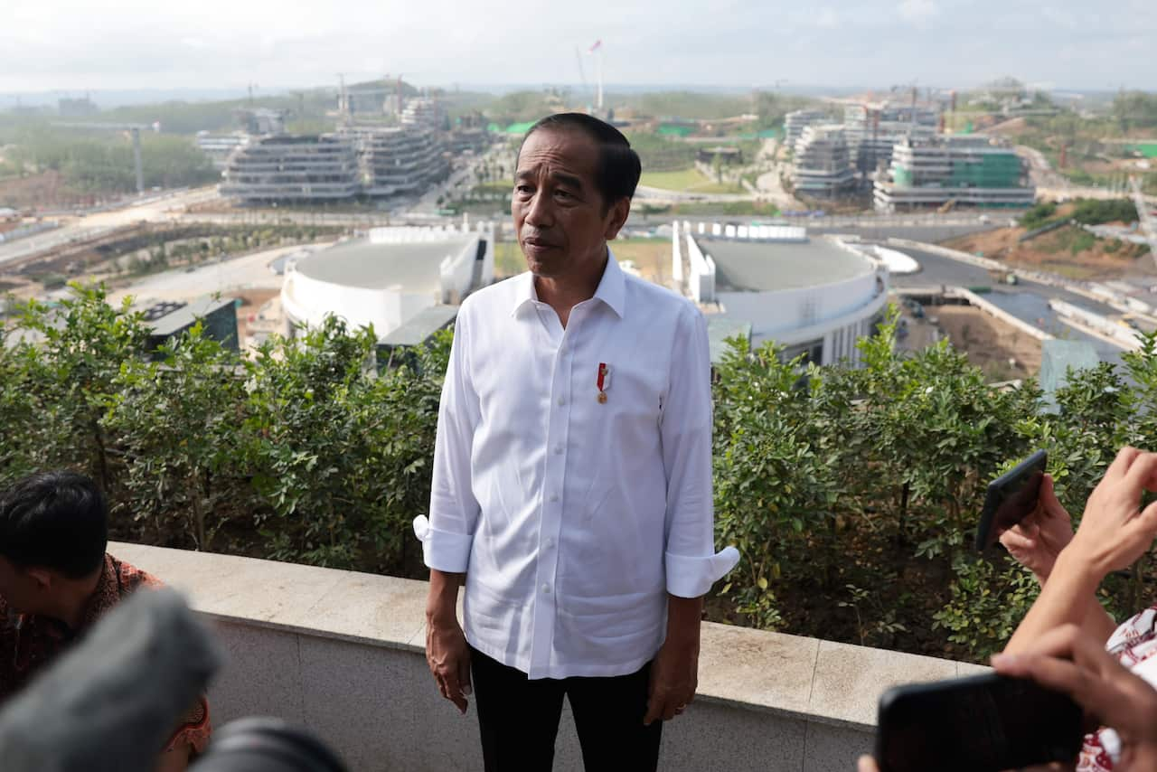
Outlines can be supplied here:
M587 275L631 213L642 166L610 124L581 112L543 118L518 148L510 201L518 245L540 278Z

